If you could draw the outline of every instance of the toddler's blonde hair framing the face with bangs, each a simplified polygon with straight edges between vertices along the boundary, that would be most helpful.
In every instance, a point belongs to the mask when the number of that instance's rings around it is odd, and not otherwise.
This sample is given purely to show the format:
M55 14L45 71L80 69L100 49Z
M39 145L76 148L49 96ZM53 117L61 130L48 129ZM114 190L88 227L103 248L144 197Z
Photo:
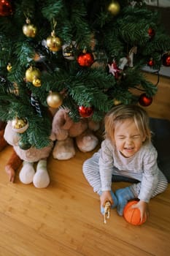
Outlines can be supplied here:
M136 124L139 132L146 136L145 142L150 142L151 132L149 125L149 116L147 112L138 105L118 105L107 113L104 118L104 138L109 138L112 143L115 142L115 125L131 119Z

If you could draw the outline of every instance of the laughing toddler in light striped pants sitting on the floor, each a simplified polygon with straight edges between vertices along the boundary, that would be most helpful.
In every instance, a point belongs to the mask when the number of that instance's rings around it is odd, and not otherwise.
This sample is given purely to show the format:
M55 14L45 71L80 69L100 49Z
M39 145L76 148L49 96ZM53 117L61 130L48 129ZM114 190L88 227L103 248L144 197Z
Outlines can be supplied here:
M101 213L109 200L122 216L128 200L137 198L141 221L148 217L151 197L163 192L168 181L157 165L157 151L151 143L149 117L138 105L119 105L104 119L105 133L101 148L83 164L83 173L94 192L100 195ZM130 187L112 192L112 178L133 178Z

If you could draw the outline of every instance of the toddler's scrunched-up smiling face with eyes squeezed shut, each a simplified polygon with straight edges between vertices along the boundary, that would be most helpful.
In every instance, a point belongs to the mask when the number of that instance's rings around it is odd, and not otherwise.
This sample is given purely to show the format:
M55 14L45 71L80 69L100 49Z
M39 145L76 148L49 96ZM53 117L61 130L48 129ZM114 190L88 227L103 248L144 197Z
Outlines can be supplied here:
M131 119L116 124L115 145L124 157L132 157L142 147L146 136L142 135Z

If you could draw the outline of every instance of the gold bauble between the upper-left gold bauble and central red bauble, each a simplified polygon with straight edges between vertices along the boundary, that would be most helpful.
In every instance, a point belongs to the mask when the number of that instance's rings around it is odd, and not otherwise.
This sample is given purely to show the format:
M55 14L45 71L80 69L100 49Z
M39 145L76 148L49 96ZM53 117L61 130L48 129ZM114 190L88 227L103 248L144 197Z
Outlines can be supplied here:
M59 37L55 36L55 31L52 31L50 37L47 37L46 44L51 51L61 50L62 42Z

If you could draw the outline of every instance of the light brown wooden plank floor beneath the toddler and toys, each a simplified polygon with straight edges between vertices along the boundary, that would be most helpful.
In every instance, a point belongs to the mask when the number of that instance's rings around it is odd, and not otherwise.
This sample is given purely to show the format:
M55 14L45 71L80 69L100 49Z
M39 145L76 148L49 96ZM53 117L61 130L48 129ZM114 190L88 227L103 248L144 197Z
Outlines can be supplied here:
M50 186L36 189L20 182L19 170L9 183L4 166L11 151L7 146L0 153L0 256L169 256L170 184L150 200L144 225L128 224L115 209L104 224L98 195L82 174L93 152L77 151L67 161L51 156ZM113 189L125 186L116 183Z

